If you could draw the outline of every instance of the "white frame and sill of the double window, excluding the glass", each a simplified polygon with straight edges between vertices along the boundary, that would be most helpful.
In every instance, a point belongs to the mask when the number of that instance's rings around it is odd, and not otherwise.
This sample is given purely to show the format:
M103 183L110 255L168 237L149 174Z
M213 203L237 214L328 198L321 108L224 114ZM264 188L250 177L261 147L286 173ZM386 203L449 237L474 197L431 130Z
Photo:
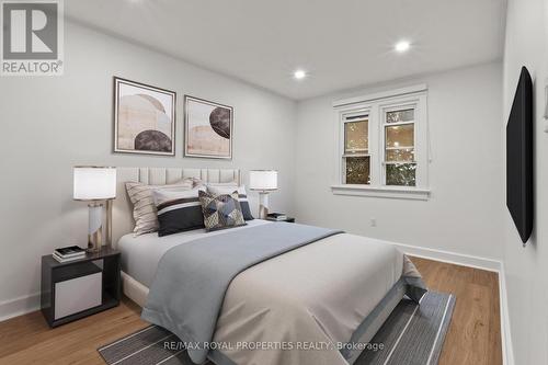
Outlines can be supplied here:
M379 92L335 101L336 114L336 167L335 183L331 185L336 195L362 195L410 199L429 199L430 140L427 121L427 87L425 84ZM386 185L385 126L386 113L395 110L414 109L414 159L416 163L415 186ZM368 155L370 159L370 184L346 184L344 159L344 124L349 115L368 114ZM406 122L409 123L409 122ZM402 123L402 124L406 124Z

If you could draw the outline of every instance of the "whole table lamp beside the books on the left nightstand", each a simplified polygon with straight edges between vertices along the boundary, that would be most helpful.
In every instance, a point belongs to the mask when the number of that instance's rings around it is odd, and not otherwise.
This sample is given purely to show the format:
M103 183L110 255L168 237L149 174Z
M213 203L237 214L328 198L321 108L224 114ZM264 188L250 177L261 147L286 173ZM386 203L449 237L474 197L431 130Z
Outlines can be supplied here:
M112 201L116 197L116 168L75 167L75 201L89 202L88 251L103 246L103 202L106 204L106 243L112 244Z

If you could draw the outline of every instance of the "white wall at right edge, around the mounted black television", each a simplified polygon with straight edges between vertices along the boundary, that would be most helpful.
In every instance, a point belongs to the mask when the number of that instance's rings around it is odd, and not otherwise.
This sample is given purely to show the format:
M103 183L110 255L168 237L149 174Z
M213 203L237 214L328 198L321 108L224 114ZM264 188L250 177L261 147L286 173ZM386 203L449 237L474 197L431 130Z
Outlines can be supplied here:
M548 1L509 0L504 52L505 130L522 66L532 75L535 92L535 221L527 247L501 196L504 212L504 269L516 364L548 364L548 134L544 128L544 83L548 77ZM505 137L504 137L505 138ZM505 145L505 139L503 139ZM505 150L503 153L505 158Z

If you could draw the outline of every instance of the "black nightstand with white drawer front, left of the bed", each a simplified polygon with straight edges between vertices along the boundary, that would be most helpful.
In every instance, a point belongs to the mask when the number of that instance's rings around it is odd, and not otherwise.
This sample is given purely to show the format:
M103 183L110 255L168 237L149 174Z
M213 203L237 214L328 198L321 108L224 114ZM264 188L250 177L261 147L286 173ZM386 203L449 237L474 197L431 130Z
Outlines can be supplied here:
M109 247L66 263L42 256L42 313L57 327L116 307L121 284L121 254Z

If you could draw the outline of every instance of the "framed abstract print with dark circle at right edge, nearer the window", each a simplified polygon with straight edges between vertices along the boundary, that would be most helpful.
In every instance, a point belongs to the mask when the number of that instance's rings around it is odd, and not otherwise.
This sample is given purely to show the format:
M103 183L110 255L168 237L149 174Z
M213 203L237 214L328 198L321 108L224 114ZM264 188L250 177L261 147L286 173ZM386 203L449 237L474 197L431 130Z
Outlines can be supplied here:
M185 95L184 111L184 156L231 159L232 107Z

